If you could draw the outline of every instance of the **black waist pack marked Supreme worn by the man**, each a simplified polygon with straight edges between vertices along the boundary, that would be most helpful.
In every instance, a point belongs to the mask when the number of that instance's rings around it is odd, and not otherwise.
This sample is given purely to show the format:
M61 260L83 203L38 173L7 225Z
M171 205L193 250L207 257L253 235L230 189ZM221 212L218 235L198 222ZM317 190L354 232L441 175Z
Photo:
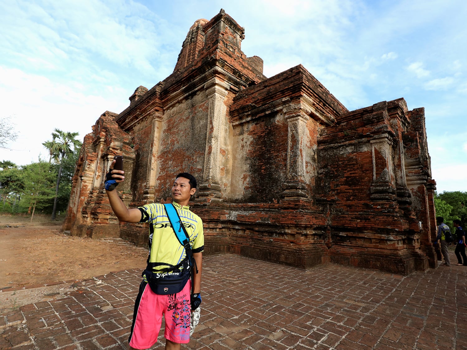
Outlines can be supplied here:
M179 293L190 279L190 268L183 270L176 269L169 272L152 272L148 269L144 270L143 275L146 275L149 287L156 294L176 294Z

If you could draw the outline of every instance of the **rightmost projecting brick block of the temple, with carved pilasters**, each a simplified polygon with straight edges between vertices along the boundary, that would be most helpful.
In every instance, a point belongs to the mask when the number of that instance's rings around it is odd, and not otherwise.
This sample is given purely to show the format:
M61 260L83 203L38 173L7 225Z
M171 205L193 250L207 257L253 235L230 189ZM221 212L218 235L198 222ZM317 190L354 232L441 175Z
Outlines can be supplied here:
M332 261L402 274L433 266L429 231L418 224L428 220L427 184L410 196L401 172L403 124L410 122L404 105L396 100L349 112L318 139L318 189L334 199Z

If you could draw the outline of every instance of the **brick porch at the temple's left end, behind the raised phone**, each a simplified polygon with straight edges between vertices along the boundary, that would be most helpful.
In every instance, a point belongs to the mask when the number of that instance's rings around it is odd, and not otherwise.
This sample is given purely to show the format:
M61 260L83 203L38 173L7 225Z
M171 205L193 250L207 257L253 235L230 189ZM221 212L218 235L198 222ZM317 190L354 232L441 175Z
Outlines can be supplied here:
M85 136L75 175L72 195L63 230L71 235L119 237L119 222L114 216L103 190L104 177L113 156L126 154L127 182L120 186L121 196L129 203L134 163L130 135L113 121L115 113L105 112Z

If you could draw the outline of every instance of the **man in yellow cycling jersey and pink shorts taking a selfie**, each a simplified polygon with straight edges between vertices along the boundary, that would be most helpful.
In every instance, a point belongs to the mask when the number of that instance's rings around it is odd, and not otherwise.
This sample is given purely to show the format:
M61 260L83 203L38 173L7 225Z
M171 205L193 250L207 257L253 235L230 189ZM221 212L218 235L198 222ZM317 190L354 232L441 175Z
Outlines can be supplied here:
M201 303L203 222L188 206L196 192L196 179L188 173L178 174L171 204L127 208L115 191L125 172L114 169L115 164L110 165L105 181L113 212L120 221L149 223L148 265L134 305L130 350L149 349L157 342L163 316L165 349L180 350L181 344L190 341L191 311L199 312Z

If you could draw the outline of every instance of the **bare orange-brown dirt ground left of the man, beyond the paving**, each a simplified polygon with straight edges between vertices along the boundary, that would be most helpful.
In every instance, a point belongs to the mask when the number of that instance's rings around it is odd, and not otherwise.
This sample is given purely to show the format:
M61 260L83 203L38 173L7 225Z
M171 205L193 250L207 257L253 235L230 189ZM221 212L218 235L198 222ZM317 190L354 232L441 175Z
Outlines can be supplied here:
M60 232L61 222L29 220L0 215L0 314L64 297L80 280L146 266L147 249L120 238L71 237Z

